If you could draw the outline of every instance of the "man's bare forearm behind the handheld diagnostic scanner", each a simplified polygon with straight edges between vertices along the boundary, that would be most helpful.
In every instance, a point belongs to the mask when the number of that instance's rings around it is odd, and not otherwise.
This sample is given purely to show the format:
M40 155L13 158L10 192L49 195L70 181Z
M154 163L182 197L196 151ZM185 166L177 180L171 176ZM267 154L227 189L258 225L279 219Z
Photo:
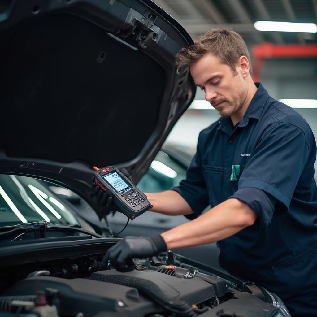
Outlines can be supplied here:
M190 205L176 191L145 194L149 202L153 205L150 211L170 216L189 215L193 213Z

